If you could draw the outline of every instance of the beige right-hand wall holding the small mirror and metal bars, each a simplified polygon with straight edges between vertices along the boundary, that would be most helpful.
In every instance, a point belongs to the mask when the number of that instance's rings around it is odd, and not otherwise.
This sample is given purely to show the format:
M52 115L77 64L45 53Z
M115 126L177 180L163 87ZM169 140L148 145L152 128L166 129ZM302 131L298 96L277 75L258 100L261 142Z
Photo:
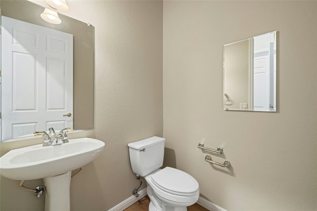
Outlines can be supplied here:
M202 197L228 211L317 210L316 20L317 1L164 1L165 146ZM274 30L277 112L223 111L222 45ZM199 142L232 166L205 162Z

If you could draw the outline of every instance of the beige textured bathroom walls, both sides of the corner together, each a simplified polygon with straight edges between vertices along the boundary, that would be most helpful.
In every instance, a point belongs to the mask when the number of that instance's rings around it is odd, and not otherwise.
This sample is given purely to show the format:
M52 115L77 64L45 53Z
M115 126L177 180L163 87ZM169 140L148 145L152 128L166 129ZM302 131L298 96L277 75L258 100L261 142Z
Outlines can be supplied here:
M73 211L106 211L131 196L138 181L126 145L163 129L165 165L191 173L216 205L317 210L316 1L67 2L64 14L95 26L96 127L87 136L106 142L72 179ZM274 30L278 112L223 111L222 45ZM212 158L232 167L205 162L200 141L223 146ZM0 210L43 211L44 198L18 185L1 177Z

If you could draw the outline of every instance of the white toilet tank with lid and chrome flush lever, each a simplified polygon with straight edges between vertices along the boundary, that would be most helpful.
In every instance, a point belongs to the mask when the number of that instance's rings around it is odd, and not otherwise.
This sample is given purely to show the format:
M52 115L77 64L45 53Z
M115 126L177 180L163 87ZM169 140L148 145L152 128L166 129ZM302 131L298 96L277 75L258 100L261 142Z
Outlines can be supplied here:
M153 136L128 144L134 173L145 176L163 165L165 138Z

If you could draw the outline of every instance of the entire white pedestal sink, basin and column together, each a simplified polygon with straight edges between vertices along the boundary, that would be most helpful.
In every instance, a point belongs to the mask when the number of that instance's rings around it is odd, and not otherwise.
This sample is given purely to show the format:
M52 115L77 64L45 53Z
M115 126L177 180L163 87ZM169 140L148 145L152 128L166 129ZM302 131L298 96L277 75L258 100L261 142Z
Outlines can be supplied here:
M45 211L70 211L71 171L93 161L104 146L97 139L75 138L60 145L14 149L0 158L0 174L16 180L43 178Z

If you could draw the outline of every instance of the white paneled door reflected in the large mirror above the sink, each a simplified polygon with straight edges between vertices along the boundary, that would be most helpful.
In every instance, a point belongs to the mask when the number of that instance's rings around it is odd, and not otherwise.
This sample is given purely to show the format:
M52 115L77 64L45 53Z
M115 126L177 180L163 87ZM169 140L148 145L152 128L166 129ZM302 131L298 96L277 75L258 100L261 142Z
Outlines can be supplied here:
M1 16L2 140L73 127L73 35Z

